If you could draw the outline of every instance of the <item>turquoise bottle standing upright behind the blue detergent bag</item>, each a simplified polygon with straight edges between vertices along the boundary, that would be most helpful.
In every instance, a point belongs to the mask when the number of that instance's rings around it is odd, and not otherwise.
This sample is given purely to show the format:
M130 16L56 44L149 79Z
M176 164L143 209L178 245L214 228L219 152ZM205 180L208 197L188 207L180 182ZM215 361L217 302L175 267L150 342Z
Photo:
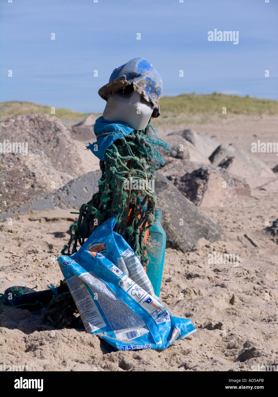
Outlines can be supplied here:
M147 265L147 275L151 281L154 293L159 297L164 256L166 248L166 233L160 224L161 211L155 211L153 225L149 229L150 243L155 243L153 249L147 248L149 263Z

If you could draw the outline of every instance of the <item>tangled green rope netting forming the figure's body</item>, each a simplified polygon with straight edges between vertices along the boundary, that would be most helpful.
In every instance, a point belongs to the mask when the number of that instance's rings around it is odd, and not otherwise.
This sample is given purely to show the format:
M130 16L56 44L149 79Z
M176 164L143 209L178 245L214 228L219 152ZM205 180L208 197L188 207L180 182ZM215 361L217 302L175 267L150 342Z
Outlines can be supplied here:
M125 224L125 227L116 225L120 230L117 231L123 235L135 255L141 257L142 264L147 263L145 234L153 224L157 201L152 172L165 164L159 148L171 150L165 141L157 137L156 132L148 124L144 130L121 135L109 146L105 152L107 160L100 160L102 176L98 192L89 202L82 204L78 221L69 227L70 239L61 251L62 255L77 252L77 243L83 245L94 229L116 215L116 224ZM103 133L97 138L110 134ZM91 147L92 144L86 146L87 149ZM127 220L129 208L132 208L132 217Z

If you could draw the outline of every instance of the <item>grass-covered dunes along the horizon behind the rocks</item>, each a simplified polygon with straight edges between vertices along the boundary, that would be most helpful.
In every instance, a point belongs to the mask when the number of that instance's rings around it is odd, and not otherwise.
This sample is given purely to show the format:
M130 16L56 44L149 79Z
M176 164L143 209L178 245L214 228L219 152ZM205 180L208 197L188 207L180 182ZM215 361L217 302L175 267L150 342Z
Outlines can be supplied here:
M222 115L222 108L228 114L278 114L278 101L270 99L252 98L249 96L224 95L214 93L210 95L183 94L178 96L164 96L160 102L161 116L159 123L167 123L176 119L184 120L187 116ZM2 102L0 103L0 119L25 113L44 113L51 115L50 106L38 105L31 102ZM89 113L74 112L73 110L56 108L55 115L60 119L82 120ZM100 114L96 114L99 116ZM158 121L155 120L155 121Z

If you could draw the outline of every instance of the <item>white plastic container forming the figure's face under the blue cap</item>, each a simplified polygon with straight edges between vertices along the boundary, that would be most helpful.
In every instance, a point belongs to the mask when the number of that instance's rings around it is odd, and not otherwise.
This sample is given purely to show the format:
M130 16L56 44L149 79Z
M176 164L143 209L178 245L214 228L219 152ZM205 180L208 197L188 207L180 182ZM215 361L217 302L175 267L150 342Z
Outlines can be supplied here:
M152 112L152 105L137 91L129 95L118 92L109 96L102 116L105 120L123 121L131 128L140 130L146 128Z

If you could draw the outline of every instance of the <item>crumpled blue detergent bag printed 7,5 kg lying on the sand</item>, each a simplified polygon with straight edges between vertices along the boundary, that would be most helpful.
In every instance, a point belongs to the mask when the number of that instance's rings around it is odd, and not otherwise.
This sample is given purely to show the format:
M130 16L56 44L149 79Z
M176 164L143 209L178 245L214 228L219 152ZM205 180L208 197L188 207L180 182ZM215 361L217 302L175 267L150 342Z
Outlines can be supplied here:
M57 259L85 330L116 350L166 349L196 329L190 320L171 316L155 296L142 264L114 226L113 217L79 251Z

